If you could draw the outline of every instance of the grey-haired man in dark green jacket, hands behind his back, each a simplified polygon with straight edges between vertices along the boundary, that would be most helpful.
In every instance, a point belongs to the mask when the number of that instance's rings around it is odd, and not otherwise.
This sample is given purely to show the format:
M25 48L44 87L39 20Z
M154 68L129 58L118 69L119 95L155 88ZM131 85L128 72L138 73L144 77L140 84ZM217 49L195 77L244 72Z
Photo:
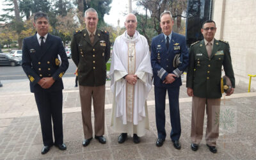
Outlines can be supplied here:
M109 33L97 29L98 14L93 8L84 13L86 29L76 31L71 42L72 60L77 66L79 93L83 118L83 146L92 140L92 99L95 118L95 138L104 138L104 105L106 63L110 56Z

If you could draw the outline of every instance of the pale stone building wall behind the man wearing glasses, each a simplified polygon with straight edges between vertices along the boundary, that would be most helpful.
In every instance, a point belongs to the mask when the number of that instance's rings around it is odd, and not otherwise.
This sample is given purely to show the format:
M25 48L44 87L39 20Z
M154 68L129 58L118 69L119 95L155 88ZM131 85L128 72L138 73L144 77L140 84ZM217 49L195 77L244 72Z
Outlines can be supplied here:
M214 0L216 39L228 41L236 86L248 88L248 74L256 74L256 0ZM256 77L251 91L256 92Z

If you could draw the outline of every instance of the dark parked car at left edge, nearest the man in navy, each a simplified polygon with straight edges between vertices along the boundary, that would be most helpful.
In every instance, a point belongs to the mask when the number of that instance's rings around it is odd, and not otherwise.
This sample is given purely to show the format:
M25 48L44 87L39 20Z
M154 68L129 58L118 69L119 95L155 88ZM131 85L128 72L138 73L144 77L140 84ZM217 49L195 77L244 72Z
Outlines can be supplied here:
M20 57L13 57L10 54L0 53L0 65L21 65L22 60Z

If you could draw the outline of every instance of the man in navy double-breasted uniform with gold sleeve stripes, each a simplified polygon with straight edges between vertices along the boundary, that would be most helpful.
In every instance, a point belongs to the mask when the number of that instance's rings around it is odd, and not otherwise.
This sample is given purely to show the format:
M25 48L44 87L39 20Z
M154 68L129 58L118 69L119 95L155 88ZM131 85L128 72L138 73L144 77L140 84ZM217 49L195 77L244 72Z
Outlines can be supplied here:
M52 145L60 150L67 148L63 143L61 77L68 68L68 58L61 38L48 33L49 21L45 13L36 13L33 25L36 35L23 41L22 68L29 78L30 90L35 95L44 141L41 153L46 154Z

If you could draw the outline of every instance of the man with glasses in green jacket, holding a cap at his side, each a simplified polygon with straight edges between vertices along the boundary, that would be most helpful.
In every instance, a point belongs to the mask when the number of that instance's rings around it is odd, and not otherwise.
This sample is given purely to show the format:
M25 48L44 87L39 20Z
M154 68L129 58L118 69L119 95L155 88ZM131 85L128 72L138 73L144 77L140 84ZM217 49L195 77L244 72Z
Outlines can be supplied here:
M205 140L207 147L213 153L217 152L216 141L219 136L220 102L221 102L221 67L230 78L232 88L235 88L235 77L230 57L228 42L216 40L216 24L213 20L204 22L202 29L204 40L192 44L189 54L189 69L187 75L187 93L192 96L191 118L191 149L198 150L204 130L204 112L206 105L207 129Z

